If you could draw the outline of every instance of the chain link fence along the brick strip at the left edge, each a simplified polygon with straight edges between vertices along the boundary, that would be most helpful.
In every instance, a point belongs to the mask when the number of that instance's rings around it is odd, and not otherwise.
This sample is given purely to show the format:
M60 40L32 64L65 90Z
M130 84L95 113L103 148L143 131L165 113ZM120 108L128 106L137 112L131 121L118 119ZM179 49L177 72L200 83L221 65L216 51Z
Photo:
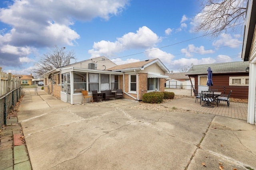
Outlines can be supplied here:
M14 106L22 96L22 87L16 88L4 94L0 98L0 126L6 125L7 115L14 109Z

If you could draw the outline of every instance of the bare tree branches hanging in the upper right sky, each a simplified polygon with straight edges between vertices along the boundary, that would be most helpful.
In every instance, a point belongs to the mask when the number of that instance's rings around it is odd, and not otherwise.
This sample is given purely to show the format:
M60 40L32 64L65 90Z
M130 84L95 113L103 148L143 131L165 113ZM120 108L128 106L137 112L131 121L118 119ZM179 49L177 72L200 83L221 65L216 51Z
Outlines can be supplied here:
M201 10L193 18L195 32L218 37L222 32L242 30L248 0L200 0Z

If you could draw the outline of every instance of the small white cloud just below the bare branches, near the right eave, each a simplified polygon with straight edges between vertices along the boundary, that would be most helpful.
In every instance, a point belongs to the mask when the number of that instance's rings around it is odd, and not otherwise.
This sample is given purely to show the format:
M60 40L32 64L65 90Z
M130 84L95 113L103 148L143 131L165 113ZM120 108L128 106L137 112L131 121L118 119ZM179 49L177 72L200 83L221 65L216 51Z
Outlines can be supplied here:
M242 43L242 41L232 38L232 36L230 34L222 33L220 35L220 39L218 39L217 41L214 41L212 43L212 45L214 45L216 47L230 45L230 48L238 48L238 47L240 47L241 43Z

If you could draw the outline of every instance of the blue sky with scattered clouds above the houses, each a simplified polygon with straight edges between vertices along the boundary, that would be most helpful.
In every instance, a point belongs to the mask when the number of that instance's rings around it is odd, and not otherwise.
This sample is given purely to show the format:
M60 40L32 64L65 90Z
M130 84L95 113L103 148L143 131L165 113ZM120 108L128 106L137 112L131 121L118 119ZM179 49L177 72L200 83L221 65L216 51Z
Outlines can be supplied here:
M0 67L6 73L30 74L54 45L73 50L77 62L105 56L119 65L158 58L174 72L191 64L242 61L242 29L215 38L193 31L198 3L2 0Z

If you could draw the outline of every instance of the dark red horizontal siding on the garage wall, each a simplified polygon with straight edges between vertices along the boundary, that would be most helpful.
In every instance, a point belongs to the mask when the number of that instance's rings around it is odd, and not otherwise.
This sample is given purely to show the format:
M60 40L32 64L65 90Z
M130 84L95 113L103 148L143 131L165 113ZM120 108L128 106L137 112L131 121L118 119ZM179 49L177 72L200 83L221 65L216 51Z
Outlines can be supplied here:
M195 89L198 89L198 76L204 75L196 75L195 76ZM207 74L205 74L207 76ZM222 94L228 94L230 90L232 93L230 95L231 98L240 98L240 99L248 99L248 86L229 86L229 77L233 76L249 76L248 73L229 73L229 74L213 74L212 82L214 89L218 89L218 92L222 92Z

